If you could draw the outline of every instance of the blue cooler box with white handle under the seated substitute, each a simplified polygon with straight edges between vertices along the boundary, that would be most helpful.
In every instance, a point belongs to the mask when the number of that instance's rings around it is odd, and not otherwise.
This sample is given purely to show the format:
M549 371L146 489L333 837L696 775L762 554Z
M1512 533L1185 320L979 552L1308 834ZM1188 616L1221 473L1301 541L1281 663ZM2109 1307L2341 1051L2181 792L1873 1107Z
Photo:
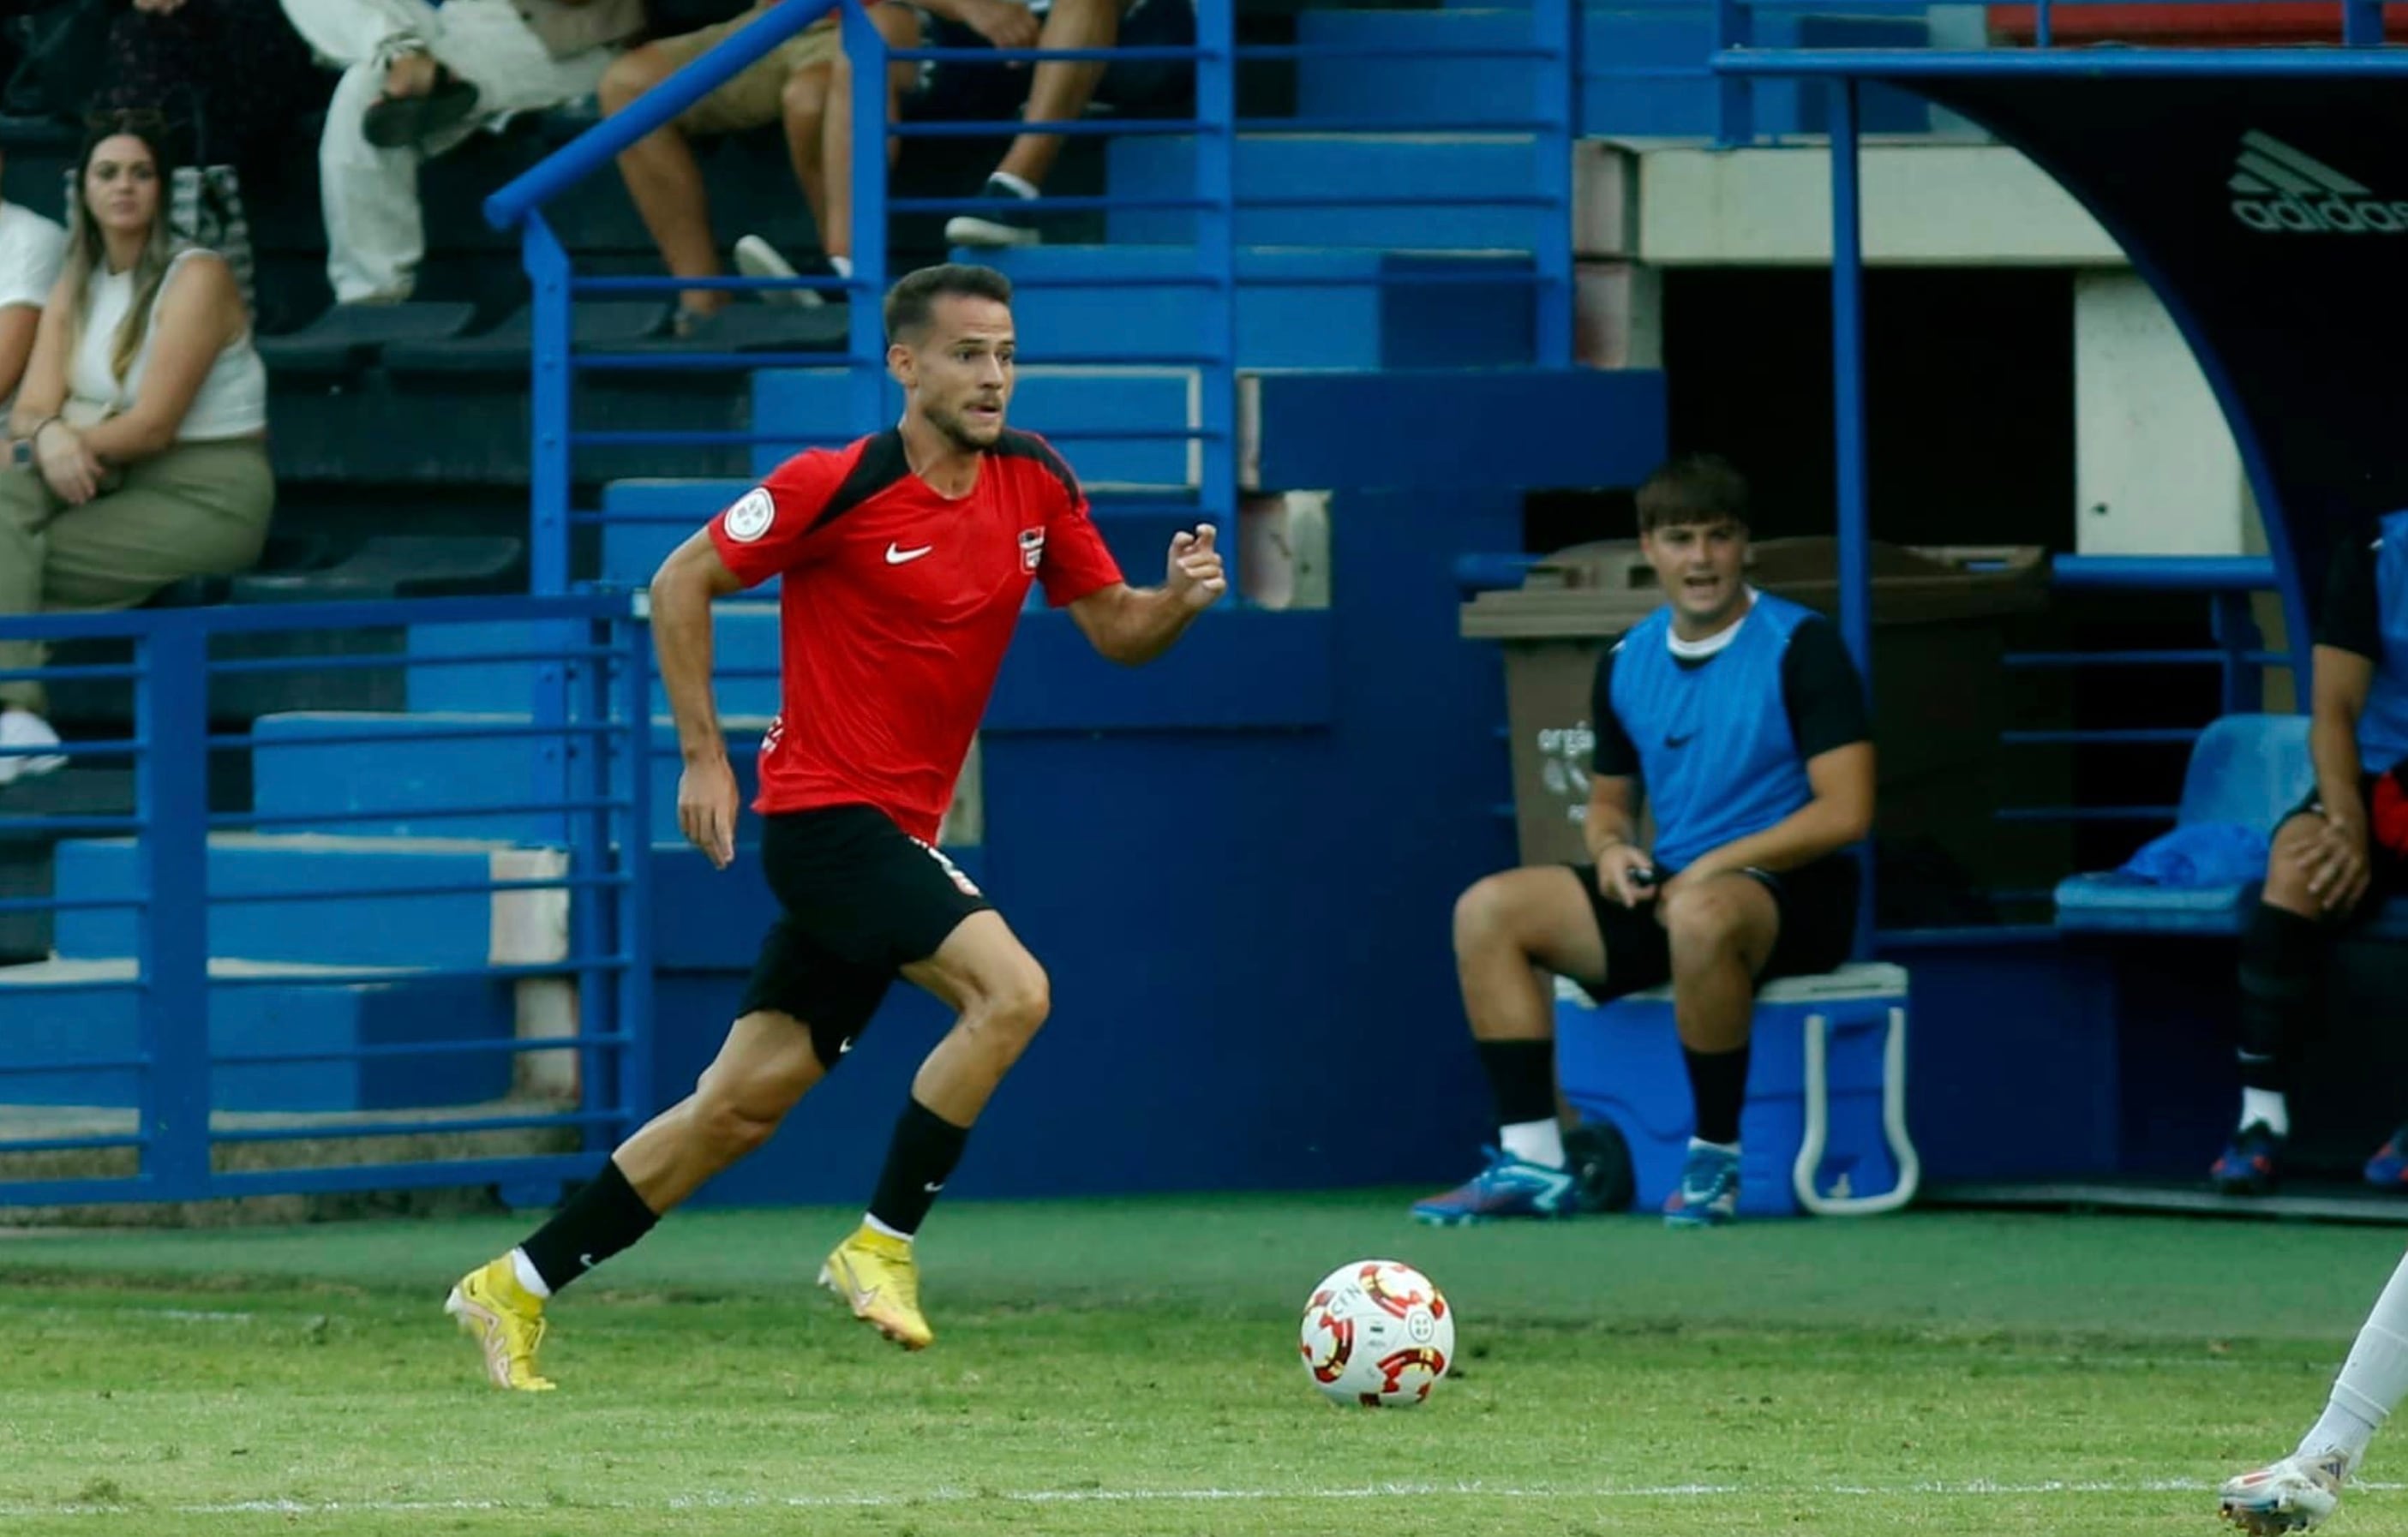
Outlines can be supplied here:
M1671 988L1594 1005L1558 980L1556 1077L1582 1120L1611 1120L1630 1144L1635 1209L1662 1207L1693 1130ZM1869 1217L1914 1200L1905 966L1857 964L1758 990L1739 1144L1743 1217Z

